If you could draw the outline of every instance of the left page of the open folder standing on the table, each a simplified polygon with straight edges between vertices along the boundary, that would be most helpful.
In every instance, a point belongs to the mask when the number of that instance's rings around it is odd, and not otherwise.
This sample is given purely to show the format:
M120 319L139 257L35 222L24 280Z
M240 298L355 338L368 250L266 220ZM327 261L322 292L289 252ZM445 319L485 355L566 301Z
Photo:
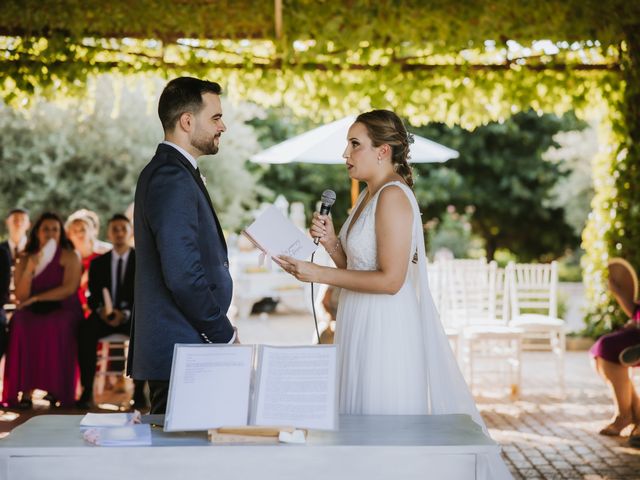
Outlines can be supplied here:
M252 367L252 345L177 344L164 430L246 425Z

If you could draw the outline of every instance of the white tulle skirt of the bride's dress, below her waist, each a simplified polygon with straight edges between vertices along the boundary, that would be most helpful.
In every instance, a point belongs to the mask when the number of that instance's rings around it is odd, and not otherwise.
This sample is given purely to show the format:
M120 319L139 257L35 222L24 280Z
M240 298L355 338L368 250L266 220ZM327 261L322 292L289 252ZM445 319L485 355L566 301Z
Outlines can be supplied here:
M340 413L425 415L427 372L415 287L395 295L343 289L336 318Z

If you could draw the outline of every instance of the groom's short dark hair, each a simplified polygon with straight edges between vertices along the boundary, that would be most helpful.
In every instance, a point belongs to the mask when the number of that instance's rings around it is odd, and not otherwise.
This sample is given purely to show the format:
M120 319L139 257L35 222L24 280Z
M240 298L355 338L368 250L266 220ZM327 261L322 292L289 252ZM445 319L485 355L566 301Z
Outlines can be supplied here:
M216 82L193 77L178 77L167 83L158 102L158 116L164 131L172 131L183 113L198 113L205 93L220 95L222 87Z

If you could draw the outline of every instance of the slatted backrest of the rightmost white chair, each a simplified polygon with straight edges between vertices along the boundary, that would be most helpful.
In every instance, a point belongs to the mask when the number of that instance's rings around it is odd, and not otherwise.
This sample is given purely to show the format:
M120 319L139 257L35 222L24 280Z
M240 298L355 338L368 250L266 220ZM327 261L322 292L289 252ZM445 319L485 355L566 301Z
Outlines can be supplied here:
M525 313L558 316L558 263L507 265L512 318Z

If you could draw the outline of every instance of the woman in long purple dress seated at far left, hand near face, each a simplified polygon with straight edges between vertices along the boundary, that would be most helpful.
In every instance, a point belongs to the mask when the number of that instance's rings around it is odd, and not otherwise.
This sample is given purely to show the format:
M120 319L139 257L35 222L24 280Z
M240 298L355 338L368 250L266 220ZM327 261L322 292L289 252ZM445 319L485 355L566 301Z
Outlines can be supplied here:
M55 253L43 265L44 247L50 239L55 241ZM73 405L76 332L82 318L76 294L80 274L80 259L62 221L54 213L43 213L15 270L19 305L9 327L2 392L5 405L30 407L36 388L47 391L45 398L52 405Z

